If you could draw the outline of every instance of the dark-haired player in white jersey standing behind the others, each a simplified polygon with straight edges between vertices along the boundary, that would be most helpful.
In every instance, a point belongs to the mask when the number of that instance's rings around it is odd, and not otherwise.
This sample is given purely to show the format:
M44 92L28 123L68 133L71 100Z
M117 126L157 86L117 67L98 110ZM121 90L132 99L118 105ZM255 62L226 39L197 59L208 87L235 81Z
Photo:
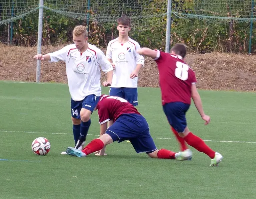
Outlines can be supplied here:
M128 36L131 19L122 16L117 19L119 36L108 43L106 58L114 68L109 95L123 98L132 105L138 105L138 72L144 65L144 57L137 53L138 42Z

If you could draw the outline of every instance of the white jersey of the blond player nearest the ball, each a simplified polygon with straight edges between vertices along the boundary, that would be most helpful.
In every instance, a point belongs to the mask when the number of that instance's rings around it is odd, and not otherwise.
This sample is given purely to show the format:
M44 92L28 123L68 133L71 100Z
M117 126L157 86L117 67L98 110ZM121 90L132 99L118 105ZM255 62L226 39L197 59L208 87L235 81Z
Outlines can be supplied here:
M91 44L83 53L79 52L75 44L71 44L49 55L50 62L62 60L66 63L69 93L75 101L91 94L100 96L100 67L105 73L113 70L104 53Z

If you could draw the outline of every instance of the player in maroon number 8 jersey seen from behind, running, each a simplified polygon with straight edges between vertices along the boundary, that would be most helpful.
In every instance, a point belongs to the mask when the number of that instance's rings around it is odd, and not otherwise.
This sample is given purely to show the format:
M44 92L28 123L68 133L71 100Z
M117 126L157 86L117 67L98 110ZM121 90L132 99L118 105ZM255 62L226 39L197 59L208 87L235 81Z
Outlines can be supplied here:
M142 48L137 52L155 59L157 63L163 109L172 131L181 145L182 152L176 155L176 158L186 160L191 157L192 152L188 149L187 142L212 159L210 166L217 166L223 159L222 155L213 151L200 137L190 132L187 126L186 112L190 107L191 98L202 119L205 120L205 125L210 122L210 117L204 113L202 101L196 88L196 75L184 62L187 53L185 45L175 44L171 49L171 54L149 48Z

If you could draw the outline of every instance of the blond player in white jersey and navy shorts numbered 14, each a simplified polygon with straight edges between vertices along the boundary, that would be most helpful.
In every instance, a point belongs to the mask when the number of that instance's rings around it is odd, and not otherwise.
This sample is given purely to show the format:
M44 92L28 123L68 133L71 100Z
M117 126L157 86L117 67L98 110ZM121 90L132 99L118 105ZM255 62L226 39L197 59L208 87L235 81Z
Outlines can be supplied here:
M90 115L93 112L100 96L100 68L107 75L103 86L111 86L113 67L107 61L104 53L87 42L86 27L78 25L73 30L74 44L48 53L35 55L37 60L49 62L64 61L69 93L71 95L71 119L75 148L82 149L89 126ZM62 152L61 154L66 154Z

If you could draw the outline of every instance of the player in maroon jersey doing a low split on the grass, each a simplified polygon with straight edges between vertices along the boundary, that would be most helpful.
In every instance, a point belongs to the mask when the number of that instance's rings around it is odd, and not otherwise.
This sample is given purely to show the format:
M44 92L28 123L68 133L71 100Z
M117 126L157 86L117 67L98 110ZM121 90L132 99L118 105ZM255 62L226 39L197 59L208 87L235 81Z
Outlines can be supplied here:
M106 145L130 140L137 153L146 152L151 158L176 159L177 153L156 148L146 119L127 100L102 95L95 109L99 114L100 137L92 140L82 151L68 147L68 155L85 157L95 151L103 155ZM114 123L107 129L107 121L110 120Z

